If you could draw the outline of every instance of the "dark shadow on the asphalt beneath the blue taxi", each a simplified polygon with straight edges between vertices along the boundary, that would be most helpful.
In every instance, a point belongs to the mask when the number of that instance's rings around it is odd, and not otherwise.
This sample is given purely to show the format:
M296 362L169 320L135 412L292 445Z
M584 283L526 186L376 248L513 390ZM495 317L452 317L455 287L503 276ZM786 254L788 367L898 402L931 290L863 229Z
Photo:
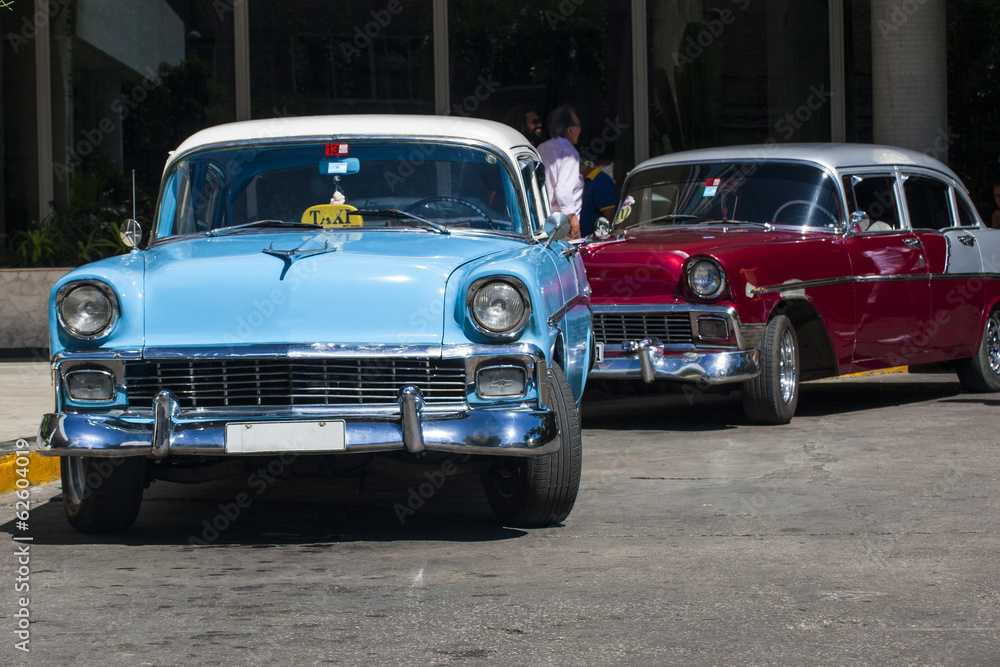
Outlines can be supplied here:
M395 484L392 482L395 481ZM321 549L350 542L490 542L527 535L494 518L478 477L427 479L399 484L373 479L358 490L356 479L275 480L267 489L245 478L197 485L154 482L143 496L132 529L119 535L85 535L67 522L61 496L33 505L33 544L186 546L192 549L302 545ZM24 535L16 522L0 533Z

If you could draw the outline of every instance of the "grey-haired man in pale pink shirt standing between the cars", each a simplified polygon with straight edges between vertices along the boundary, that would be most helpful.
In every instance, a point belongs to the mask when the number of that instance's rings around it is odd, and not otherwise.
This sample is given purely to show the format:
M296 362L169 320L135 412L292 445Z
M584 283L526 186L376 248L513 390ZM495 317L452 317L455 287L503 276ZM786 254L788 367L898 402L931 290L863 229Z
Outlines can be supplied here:
M580 175L580 118L573 107L564 105L549 114L549 135L538 146L545 165L545 182L553 213L565 213L570 221L570 238L580 237L580 209L583 207L583 176Z

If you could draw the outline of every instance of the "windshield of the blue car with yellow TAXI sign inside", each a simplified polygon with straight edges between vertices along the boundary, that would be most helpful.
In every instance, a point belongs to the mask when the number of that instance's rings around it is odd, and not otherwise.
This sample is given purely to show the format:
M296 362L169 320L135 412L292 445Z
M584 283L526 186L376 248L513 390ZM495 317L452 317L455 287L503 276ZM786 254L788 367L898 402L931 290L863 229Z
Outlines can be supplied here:
M435 229L421 218L448 229L521 233L516 182L497 155L470 146L324 141L204 151L166 174L155 236L301 223Z

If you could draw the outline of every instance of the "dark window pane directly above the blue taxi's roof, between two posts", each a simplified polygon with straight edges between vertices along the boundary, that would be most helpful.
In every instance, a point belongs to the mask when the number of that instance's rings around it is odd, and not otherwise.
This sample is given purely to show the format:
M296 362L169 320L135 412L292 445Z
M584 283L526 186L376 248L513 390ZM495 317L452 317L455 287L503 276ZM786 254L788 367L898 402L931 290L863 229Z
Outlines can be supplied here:
M431 5L250 3L253 117L434 113Z

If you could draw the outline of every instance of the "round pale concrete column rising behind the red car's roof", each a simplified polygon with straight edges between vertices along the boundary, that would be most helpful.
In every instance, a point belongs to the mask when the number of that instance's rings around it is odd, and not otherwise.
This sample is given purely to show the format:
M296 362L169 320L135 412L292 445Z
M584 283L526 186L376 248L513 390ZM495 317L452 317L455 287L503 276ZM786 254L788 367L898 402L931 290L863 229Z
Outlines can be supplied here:
M946 0L872 0L875 143L948 159Z

